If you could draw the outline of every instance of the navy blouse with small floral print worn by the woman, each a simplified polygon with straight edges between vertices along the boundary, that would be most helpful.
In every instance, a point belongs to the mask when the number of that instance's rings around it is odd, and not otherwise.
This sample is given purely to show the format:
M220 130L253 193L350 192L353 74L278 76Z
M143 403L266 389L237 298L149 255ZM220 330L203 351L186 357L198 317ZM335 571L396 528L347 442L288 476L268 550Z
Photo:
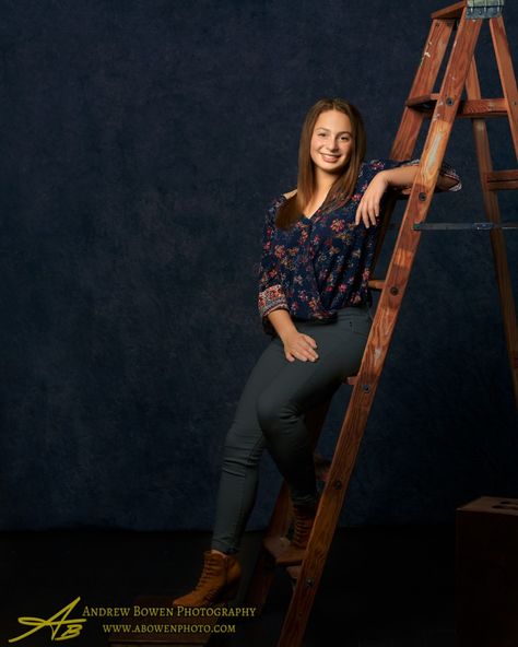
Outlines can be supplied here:
M267 334L275 334L268 319L273 310L287 310L298 320L326 321L335 318L340 308L372 303L367 281L379 226L367 228L363 221L355 225L356 208L377 173L419 162L364 162L348 202L330 210L320 208L310 219L302 215L289 230L275 227L278 209L286 198L273 200L266 214L259 264L258 307ZM443 164L440 174L457 180L449 191L461 188L459 176L449 164ZM381 213L382 207L384 200Z

